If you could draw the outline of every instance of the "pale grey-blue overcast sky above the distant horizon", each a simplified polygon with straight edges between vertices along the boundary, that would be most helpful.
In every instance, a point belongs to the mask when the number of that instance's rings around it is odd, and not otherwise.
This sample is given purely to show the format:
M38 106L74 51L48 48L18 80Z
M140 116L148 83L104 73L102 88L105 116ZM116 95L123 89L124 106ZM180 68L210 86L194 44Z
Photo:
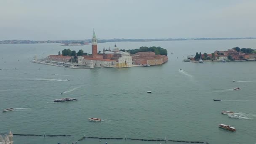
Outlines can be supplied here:
M256 0L0 0L0 40L256 37Z

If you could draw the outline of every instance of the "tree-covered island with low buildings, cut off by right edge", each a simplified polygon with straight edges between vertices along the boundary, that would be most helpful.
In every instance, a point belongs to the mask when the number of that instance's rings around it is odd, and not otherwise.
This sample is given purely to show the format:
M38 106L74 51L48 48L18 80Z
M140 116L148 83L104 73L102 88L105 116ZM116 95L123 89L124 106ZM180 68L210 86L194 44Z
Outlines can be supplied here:
M256 61L256 50L235 47L227 51L214 51L213 53L197 52L195 56L188 56L183 61L200 63L203 61Z

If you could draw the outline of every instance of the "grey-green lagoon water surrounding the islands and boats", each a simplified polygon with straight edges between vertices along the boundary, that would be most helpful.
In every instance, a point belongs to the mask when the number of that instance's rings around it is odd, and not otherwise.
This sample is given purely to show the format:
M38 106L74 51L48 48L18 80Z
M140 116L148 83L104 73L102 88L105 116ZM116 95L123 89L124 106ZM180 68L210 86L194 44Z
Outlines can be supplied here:
M0 45L0 109L16 108L12 112L0 112L0 133L11 130L21 134L72 135L14 136L14 144L66 144L84 135L137 139L165 139L166 136L210 144L256 143L256 62L182 61L187 55L200 51L211 53L235 46L255 49L256 40L116 44L122 49L161 46L168 50L169 61L152 67L64 69L29 61L35 55L40 59L64 48L91 53L91 45ZM99 43L98 49L102 51L103 47L113 45L115 43ZM232 90L235 87L241 89ZM62 97L74 97L78 101L53 103ZM229 118L221 115L223 110L234 111L245 118ZM90 117L103 120L89 122ZM237 132L218 128L220 123L234 126ZM78 144L104 144L105 141L85 139ZM155 141L107 142L155 144Z

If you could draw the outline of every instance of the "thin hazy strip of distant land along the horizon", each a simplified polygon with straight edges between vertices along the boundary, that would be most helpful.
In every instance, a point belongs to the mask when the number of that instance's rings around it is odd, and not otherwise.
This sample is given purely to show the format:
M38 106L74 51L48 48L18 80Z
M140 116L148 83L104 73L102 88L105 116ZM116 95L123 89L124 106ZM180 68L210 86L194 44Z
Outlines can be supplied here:
M107 42L152 42L152 41L184 41L184 40L252 40L256 37L224 37L224 38L167 38L167 39L108 39L98 40ZM0 44L35 44L35 43L91 43L91 40L2 40Z

